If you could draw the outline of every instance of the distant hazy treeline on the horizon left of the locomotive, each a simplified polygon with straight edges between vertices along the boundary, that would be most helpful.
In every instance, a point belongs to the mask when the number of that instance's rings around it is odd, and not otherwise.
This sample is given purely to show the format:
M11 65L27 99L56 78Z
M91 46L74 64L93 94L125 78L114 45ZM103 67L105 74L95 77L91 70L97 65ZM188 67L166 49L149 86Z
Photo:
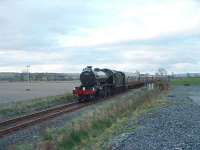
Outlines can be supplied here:
M0 81L70 81L79 79L78 73L0 73Z

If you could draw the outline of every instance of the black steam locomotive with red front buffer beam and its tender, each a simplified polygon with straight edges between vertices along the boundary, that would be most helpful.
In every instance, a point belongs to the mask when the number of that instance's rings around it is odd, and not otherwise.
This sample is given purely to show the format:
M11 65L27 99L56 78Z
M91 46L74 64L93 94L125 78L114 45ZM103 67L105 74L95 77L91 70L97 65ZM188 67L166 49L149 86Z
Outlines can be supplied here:
M146 77L139 73L128 73L110 69L93 69L87 66L80 74L81 85L75 87L73 94L79 101L107 97L136 86L143 86Z

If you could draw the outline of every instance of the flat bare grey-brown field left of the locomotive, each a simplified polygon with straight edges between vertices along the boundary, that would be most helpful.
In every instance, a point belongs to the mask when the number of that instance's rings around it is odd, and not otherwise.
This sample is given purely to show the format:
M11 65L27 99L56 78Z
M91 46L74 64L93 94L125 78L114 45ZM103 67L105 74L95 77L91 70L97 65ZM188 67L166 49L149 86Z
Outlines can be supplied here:
M0 103L71 93L79 85L80 81L0 82Z

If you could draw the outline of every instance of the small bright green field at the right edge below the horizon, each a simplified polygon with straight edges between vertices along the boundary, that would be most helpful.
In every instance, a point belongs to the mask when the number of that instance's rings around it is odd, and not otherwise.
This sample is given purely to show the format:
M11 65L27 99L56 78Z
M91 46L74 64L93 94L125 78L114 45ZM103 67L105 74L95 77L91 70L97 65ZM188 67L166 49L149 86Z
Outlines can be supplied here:
M200 78L174 79L171 83L172 85L200 85Z

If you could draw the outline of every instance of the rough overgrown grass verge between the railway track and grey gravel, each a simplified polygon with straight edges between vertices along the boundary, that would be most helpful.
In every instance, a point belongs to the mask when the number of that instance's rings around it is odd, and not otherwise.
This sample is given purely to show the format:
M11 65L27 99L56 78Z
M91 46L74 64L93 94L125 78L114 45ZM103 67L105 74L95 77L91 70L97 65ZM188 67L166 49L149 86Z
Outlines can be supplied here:
M138 127L136 121L139 116L167 105L159 93L158 90L142 90L105 102L63 128L48 129L34 148L33 145L25 147L41 150L110 149L110 139L134 131ZM135 122L135 125L125 127L130 121Z

